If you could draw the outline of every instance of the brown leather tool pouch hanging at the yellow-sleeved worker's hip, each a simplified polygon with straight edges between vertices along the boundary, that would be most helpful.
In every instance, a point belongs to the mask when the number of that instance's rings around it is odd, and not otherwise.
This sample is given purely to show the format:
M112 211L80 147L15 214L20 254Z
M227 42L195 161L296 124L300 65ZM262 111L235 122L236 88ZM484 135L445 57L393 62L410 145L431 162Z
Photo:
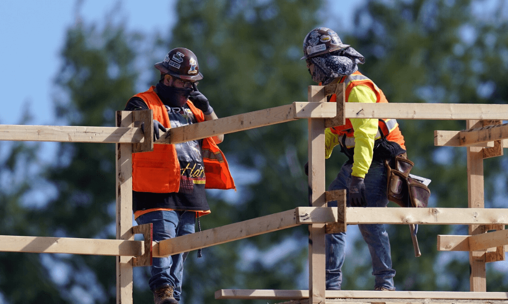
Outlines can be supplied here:
M385 160L388 170L388 199L401 207L426 208L429 203L430 190L422 182L409 177L414 163L400 154Z

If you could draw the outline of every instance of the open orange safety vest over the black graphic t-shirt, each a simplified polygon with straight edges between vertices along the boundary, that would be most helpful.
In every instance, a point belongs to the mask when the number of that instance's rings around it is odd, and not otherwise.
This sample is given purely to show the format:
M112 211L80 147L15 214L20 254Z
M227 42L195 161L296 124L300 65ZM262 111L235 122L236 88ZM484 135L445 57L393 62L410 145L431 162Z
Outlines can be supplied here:
M136 94L153 110L153 119L167 129L171 128L168 111L152 86L146 92ZM204 122L203 112L190 100L187 105L198 122ZM205 165L205 188L236 189L229 171L228 161L212 138L203 139L203 163ZM154 144L153 151L134 153L132 157L132 188L138 192L171 193L180 188L180 163L173 144Z

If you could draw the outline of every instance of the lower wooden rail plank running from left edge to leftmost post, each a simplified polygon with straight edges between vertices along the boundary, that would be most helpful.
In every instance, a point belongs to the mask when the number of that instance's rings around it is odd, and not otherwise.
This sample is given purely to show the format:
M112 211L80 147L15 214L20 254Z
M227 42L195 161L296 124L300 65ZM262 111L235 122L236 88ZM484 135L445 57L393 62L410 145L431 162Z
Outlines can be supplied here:
M140 256L143 242L108 239L0 236L0 251Z

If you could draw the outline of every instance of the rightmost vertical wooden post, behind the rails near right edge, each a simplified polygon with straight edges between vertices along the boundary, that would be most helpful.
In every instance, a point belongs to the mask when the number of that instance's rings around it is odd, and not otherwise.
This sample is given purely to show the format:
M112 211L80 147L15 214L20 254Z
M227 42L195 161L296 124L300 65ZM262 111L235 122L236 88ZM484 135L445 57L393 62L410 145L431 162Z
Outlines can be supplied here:
M466 128L483 127L482 121L468 120ZM484 208L484 179L483 179L483 148L467 147L467 206L469 208ZM485 233L484 225L470 225L469 235ZM470 291L487 291L485 271L485 251L469 252L469 288Z

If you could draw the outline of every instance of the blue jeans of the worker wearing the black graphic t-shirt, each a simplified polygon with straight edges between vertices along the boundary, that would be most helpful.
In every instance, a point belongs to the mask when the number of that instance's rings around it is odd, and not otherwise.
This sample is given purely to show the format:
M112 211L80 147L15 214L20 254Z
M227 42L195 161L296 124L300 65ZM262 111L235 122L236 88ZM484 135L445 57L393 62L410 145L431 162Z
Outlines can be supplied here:
M194 233L196 212L193 211L152 211L138 218L139 225L153 223L153 241L162 241ZM183 281L183 262L188 252L168 257L154 257L151 266L151 278L148 281L153 291L164 284L174 287L173 296L180 300Z

